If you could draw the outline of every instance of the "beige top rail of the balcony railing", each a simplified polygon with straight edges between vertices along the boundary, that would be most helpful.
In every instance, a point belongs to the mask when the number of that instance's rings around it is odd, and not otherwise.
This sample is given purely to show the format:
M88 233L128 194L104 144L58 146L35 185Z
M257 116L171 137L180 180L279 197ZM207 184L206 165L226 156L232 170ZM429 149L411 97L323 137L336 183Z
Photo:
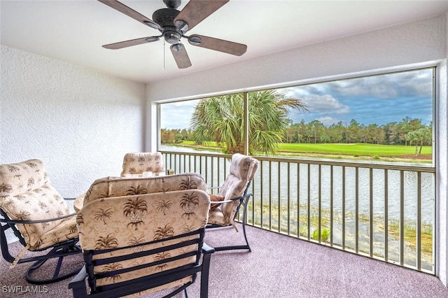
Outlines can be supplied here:
M194 155L194 156L207 156L207 157L223 157L231 158L232 155L228 154L213 154L213 153L202 153L202 152L179 152L179 151L163 151L160 150L162 154L173 154L173 155ZM290 158L290 157L266 157L254 155L260 161L267 162L289 162L294 164L320 164L325 166L349 166L355 168L367 168L367 169L388 169L395 171L419 171L426 173L435 173L435 166L426 164L386 164L384 162L351 162L351 161L334 161L328 159L304 159L304 158Z

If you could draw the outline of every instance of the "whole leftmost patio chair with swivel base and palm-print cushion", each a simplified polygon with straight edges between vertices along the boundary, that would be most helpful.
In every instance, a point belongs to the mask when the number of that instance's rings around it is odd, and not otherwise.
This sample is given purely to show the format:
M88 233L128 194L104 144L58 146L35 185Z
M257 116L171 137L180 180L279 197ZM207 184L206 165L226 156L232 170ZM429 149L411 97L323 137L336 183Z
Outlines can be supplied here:
M11 267L34 262L25 273L29 283L54 283L78 273L80 267L62 270L61 274L64 257L81 252L77 245L76 214L69 213L66 201L52 187L41 160L0 165L0 215L1 254L12 263ZM8 250L8 229L24 246L16 257ZM27 250L33 254L22 257ZM38 253L43 250L45 253ZM41 277L43 270L36 270L52 258L58 259L52 276Z

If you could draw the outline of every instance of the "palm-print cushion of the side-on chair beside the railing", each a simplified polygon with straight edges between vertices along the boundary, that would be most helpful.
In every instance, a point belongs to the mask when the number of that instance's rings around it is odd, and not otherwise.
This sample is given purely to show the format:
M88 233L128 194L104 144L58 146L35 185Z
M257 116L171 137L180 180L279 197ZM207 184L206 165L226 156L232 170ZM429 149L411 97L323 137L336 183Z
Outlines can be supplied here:
M254 157L235 153L230 161L230 172L221 185L218 195L225 200L241 197L249 181L255 176L258 169L258 160ZM233 225L235 213L237 213L239 201L223 203L209 213L209 223L216 225ZM237 229L238 230L238 229Z

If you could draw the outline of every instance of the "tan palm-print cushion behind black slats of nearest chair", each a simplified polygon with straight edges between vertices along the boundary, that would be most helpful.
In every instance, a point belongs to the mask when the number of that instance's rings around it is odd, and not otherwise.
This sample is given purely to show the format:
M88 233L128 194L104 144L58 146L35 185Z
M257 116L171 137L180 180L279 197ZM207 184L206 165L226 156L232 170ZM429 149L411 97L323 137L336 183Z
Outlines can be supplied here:
M123 180L117 181L125 182ZM96 199L85 204L78 213L77 222L80 244L83 250L125 248L124 250L113 250L94 255L94 260L104 260L104 258L115 255L135 255L135 253L143 250L160 248L161 246L185 241L188 237L194 236L148 243L144 246L134 246L139 243L165 239L205 227L207 225L209 207L209 195L203 190L124 194L120 197ZM95 265L94 274L115 269L127 269L136 266L136 264L148 264L197 250L196 244L146 256L136 256L132 257L131 260ZM94 283L97 286L102 286L119 281L132 280L185 264L193 264L196 262L196 257L197 255L193 254L187 259L159 263L158 265L118 275L106 275L103 278L97 276ZM183 278L181 281L148 292L172 288L190 280L191 278ZM93 281L90 282L92 283ZM148 292L145 292L145 294ZM141 294L143 293L139 293L139 295Z

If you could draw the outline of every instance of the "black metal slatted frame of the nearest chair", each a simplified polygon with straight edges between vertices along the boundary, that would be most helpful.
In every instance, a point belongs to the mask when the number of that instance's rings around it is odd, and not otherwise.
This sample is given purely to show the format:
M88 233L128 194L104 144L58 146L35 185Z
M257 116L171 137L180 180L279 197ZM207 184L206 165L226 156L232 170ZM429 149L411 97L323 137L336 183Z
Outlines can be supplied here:
M83 253L85 265L83 269L78 273L78 275L73 278L73 281L69 283L69 288L73 290L73 297L74 298L80 298L80 297L104 297L104 298L111 298L111 297L122 297L125 295L134 294L137 292L141 292L144 290L149 290L152 288L156 288L160 285L165 285L167 283L171 283L173 281L177 281L181 278L185 278L188 276L193 276L193 280L181 285L181 287L176 288L173 292L170 292L168 295L166 295L164 298L167 297L173 297L174 295L178 294L179 292L184 292L186 297L188 297L187 288L189 285L192 285L197 277L197 273L201 272L201 285L200 285L200 298L207 298L208 297L208 290L209 290L209 267L210 267L210 259L211 254L214 253L214 248L211 248L210 246L207 246L206 243L204 243L204 234L205 229L197 229L194 232L188 232L186 234L180 234L177 236L172 236L169 238L164 238L156 241L150 241L147 243L140 243L134 246L127 246L123 248L109 248L104 250L85 250ZM100 253L107 253L112 252L116 250L123 250L128 248L134 248L139 246L146 246L151 243L158 243L161 241L169 241L171 239L180 239L182 237L186 236L193 236L198 235L196 239L189 240L189 241L183 241L181 243L175 243L170 246L162 246L160 248L155 248L152 250L144 250L139 253L132 253L127 255L120 255L116 257L109 257L106 260L92 260L94 255L100 254ZM192 244L197 244L198 247L200 247L197 251L193 251L190 253L185 253L180 256L176 257L169 257L164 260L158 260L155 262L151 262L149 264L141 264L139 266L127 268L127 269L117 269L113 271L107 271L106 273L99 273L94 274L93 269L94 265L98 264L108 264L111 262L120 262L123 260L132 260L136 257L143 257L146 255L153 255L155 253L161 253L163 251L167 250L173 250L176 248L182 248L185 246L190 246ZM97 287L95 281L96 278L102 278L102 277L108 277L108 276L115 276L116 274L120 274L123 272L130 272L137 269L142 269L145 267L151 267L151 266L157 266L158 264L167 263L174 260L179 260L183 257L191 257L193 255L196 255L196 262L195 264L188 264L183 267L178 267L174 269L169 269L166 271L161 271L156 274L151 274L148 276L142 276L140 278L136 278L130 281L123 281L123 282L117 282L113 283L112 285L104 285L102 287ZM202 255L202 263L200 263ZM87 285L85 283L85 278L87 278L87 283L90 287L90 294L87 294Z

